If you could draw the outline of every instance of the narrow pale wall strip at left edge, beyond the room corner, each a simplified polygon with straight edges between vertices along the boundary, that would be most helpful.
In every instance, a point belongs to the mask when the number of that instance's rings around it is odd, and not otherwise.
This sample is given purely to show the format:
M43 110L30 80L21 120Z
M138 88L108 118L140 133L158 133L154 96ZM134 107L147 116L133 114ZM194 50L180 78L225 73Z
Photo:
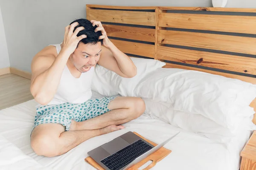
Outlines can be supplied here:
M3 28L3 18L0 7L0 68L10 67L6 36Z

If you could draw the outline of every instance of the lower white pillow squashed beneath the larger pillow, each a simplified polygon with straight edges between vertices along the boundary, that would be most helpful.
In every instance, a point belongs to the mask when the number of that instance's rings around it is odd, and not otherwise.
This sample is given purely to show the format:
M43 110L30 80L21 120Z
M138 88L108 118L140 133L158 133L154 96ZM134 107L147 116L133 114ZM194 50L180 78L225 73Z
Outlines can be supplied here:
M232 142L233 137L240 130L250 130L255 126L251 121L253 117L242 118L243 128L231 131L227 127L223 127L216 122L208 119L200 114L191 114L183 111L175 111L173 106L165 102L153 102L144 99L146 109L145 113L151 115L155 119L160 119L176 127L180 127L192 133L206 136L216 142L228 144Z

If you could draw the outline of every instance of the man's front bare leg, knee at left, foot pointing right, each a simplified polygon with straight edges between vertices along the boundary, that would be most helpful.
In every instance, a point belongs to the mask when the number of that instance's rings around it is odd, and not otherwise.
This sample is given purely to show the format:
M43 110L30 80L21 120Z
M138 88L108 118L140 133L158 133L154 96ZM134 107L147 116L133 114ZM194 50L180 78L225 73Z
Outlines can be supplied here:
M36 126L31 134L31 147L38 155L58 156L87 139L122 128L122 126L111 125L97 130L65 131L65 127L61 124L41 124Z

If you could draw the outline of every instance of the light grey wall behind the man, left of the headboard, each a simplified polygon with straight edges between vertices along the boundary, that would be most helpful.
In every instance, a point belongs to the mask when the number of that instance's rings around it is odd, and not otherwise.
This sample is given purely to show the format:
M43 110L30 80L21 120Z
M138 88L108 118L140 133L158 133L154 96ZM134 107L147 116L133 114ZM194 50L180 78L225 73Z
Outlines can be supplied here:
M85 17L86 0L0 0L11 67L31 71L32 58L63 40L64 27Z

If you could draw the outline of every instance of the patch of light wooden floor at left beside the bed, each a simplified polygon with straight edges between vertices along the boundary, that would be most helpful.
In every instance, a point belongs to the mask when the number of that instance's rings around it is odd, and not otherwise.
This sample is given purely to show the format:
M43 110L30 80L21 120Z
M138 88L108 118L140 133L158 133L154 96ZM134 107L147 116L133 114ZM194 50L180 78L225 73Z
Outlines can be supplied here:
M0 110L31 99L29 79L14 74L0 76Z

